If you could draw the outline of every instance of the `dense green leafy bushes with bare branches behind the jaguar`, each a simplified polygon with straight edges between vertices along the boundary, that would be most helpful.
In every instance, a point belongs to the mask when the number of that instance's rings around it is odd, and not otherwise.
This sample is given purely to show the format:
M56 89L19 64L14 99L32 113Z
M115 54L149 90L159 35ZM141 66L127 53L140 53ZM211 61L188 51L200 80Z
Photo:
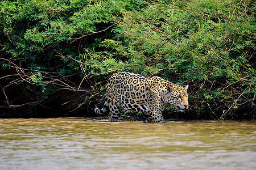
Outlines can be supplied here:
M189 84L190 112L166 116L255 117L254 1L0 3L2 108L83 111L133 71Z

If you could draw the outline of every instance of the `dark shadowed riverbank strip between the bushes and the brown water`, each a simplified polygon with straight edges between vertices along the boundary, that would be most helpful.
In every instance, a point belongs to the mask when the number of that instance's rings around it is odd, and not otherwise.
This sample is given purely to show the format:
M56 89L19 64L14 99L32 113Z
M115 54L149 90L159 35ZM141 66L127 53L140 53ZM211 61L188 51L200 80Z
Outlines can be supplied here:
M36 110L37 109L37 110ZM222 114L216 114L212 112L196 113L195 111L187 112L172 112L164 111L163 117L166 120L212 120L212 121L223 121L223 120L255 120L256 113L247 113L240 111L240 114L228 114L222 117ZM105 115L105 119L108 118L108 113ZM42 107L31 108L30 106L19 107L19 108L2 108L0 112L0 118L49 118L49 117L92 117L97 118L95 113L88 113L86 107L82 107L77 111L68 112L63 109L50 110ZM142 121L143 114L136 112L122 113L119 120L121 121Z

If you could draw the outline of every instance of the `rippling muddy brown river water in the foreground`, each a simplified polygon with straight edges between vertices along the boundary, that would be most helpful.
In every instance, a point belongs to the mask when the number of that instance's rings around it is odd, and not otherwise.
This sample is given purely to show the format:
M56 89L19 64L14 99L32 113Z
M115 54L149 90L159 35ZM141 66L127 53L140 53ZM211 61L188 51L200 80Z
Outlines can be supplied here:
M0 119L0 169L256 169L256 121Z

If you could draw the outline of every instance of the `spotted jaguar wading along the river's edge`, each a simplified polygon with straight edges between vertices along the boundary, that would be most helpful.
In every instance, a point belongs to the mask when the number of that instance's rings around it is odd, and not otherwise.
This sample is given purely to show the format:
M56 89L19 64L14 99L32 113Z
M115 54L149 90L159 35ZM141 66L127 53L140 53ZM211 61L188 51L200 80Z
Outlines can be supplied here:
M121 111L131 110L145 114L143 122L164 123L162 112L168 103L177 111L188 109L187 86L180 86L158 76L147 78L135 73L114 74L106 85L106 99L102 109L90 103L97 114L109 109L110 121L118 121Z

